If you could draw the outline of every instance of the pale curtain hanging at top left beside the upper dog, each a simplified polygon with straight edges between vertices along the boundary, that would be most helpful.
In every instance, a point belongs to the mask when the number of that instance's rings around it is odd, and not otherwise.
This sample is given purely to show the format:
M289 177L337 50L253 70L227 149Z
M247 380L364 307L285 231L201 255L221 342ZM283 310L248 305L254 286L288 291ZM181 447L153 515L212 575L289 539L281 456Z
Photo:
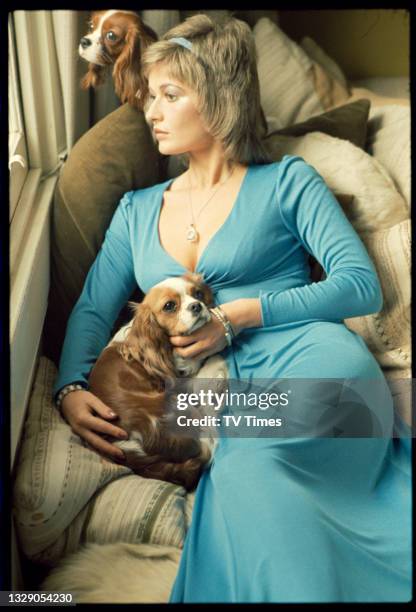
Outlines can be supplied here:
M78 54L89 11L14 11L29 165L51 174L79 137L120 102L109 79L83 91Z

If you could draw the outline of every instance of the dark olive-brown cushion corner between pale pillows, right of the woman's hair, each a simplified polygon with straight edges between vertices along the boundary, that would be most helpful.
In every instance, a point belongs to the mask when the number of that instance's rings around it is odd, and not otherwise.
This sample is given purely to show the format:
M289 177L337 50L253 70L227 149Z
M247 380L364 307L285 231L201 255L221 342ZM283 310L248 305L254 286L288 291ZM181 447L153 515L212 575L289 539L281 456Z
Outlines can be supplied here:
M357 147L364 149L369 111L370 102L368 100L356 100L311 117L302 123L295 123L277 131L269 130L266 140L276 133L286 136L303 136L308 132L323 132L329 134L329 136L348 140Z

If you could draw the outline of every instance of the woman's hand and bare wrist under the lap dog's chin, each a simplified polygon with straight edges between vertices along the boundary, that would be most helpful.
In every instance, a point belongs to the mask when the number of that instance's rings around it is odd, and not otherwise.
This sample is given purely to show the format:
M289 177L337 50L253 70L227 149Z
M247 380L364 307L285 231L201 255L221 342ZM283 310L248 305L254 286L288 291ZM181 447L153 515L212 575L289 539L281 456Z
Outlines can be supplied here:
M261 325L260 302L258 299L238 299L221 304L221 310L231 323L235 335L244 327ZM212 315L211 321L189 336L171 336L171 343L177 355L185 358L205 359L227 346L224 325Z

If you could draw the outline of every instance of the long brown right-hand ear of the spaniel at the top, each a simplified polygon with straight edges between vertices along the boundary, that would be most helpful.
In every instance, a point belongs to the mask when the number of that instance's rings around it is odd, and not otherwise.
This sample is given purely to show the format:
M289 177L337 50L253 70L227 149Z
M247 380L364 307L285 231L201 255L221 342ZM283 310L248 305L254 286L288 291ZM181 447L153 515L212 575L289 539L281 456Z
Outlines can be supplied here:
M140 59L142 52L155 40L157 36L153 30L139 21L129 26L123 52L113 69L114 88L121 102L143 109L147 82L142 76Z

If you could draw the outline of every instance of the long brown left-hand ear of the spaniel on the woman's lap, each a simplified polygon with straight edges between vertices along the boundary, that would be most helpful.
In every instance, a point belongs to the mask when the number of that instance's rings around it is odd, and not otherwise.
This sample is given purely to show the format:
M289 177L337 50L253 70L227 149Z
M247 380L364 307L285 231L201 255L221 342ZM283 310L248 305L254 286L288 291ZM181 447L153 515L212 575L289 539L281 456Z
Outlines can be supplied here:
M129 302L129 305L133 304ZM121 355L126 361L139 361L151 378L174 377L173 347L168 334L148 304L134 304L134 308L133 325L120 347Z

